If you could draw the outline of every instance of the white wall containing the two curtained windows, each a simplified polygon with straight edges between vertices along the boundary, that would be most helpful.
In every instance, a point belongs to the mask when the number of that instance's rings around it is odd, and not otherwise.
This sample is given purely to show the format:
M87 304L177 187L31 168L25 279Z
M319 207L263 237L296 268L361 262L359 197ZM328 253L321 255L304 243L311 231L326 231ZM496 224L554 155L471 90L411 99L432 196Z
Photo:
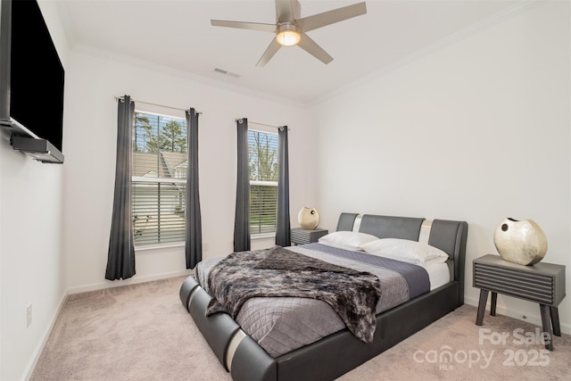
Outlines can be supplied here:
M120 286L156 277L186 273L184 247L137 251L137 275L127 281L104 279L111 226L117 134L115 95L137 100L194 107L199 117L200 196L204 258L227 254L233 248L236 202L236 118L250 122L288 125L290 203L297 211L311 203L310 113L300 105L247 95L228 87L162 70L104 57L86 49L70 55L66 104L64 172L64 248L67 254L70 292L104 286ZM254 127L252 125L251 127ZM314 197L313 197L314 198ZM269 246L273 240L252 242Z

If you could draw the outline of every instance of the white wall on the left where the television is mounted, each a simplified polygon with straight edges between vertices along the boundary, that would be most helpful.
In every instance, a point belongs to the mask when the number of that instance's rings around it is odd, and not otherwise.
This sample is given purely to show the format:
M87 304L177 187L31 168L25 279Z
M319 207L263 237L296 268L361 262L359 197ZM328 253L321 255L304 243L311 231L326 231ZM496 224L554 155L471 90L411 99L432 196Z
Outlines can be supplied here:
M40 2L66 67L68 47L53 3ZM33 97L33 95L31 95ZM37 100L39 101L39 100ZM64 129L66 121L64 120ZM34 365L65 294L62 252L63 165L42 164L0 139L0 379L24 377ZM66 142L63 142L65 152ZM26 308L32 323L26 327Z

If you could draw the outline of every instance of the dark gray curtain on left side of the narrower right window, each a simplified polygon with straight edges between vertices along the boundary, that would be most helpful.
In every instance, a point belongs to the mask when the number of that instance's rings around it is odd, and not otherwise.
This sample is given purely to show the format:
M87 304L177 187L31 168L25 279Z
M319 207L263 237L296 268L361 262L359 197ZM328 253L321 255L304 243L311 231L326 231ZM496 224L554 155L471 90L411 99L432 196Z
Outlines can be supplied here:
M236 177L236 215L234 251L250 250L250 167L248 166L248 120L236 120L238 170Z

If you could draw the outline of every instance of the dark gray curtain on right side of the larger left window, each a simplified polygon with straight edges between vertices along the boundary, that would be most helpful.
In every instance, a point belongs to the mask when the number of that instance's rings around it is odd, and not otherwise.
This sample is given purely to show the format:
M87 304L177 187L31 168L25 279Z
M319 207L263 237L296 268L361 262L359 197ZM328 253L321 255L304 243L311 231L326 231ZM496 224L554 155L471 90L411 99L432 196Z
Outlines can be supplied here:
M198 113L186 111L188 167L186 170L186 269L203 260L203 228L198 193Z

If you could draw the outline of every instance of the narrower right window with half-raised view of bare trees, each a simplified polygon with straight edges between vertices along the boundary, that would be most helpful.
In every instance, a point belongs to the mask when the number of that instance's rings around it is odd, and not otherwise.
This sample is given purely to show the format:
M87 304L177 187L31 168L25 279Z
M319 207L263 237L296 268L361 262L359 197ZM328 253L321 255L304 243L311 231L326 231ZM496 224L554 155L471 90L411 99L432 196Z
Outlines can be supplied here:
M276 232L277 134L248 131L250 234Z

